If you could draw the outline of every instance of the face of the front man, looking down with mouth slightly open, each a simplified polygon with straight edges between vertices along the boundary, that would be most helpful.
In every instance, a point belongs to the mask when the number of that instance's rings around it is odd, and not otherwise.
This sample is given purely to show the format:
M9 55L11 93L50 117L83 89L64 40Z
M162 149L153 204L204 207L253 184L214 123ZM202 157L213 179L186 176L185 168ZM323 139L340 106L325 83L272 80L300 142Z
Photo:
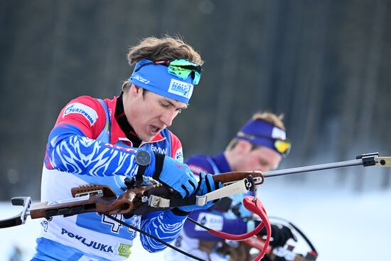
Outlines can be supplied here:
M144 91L132 85L124 93L124 112L139 139L149 142L170 126L173 119L187 108L186 103Z

